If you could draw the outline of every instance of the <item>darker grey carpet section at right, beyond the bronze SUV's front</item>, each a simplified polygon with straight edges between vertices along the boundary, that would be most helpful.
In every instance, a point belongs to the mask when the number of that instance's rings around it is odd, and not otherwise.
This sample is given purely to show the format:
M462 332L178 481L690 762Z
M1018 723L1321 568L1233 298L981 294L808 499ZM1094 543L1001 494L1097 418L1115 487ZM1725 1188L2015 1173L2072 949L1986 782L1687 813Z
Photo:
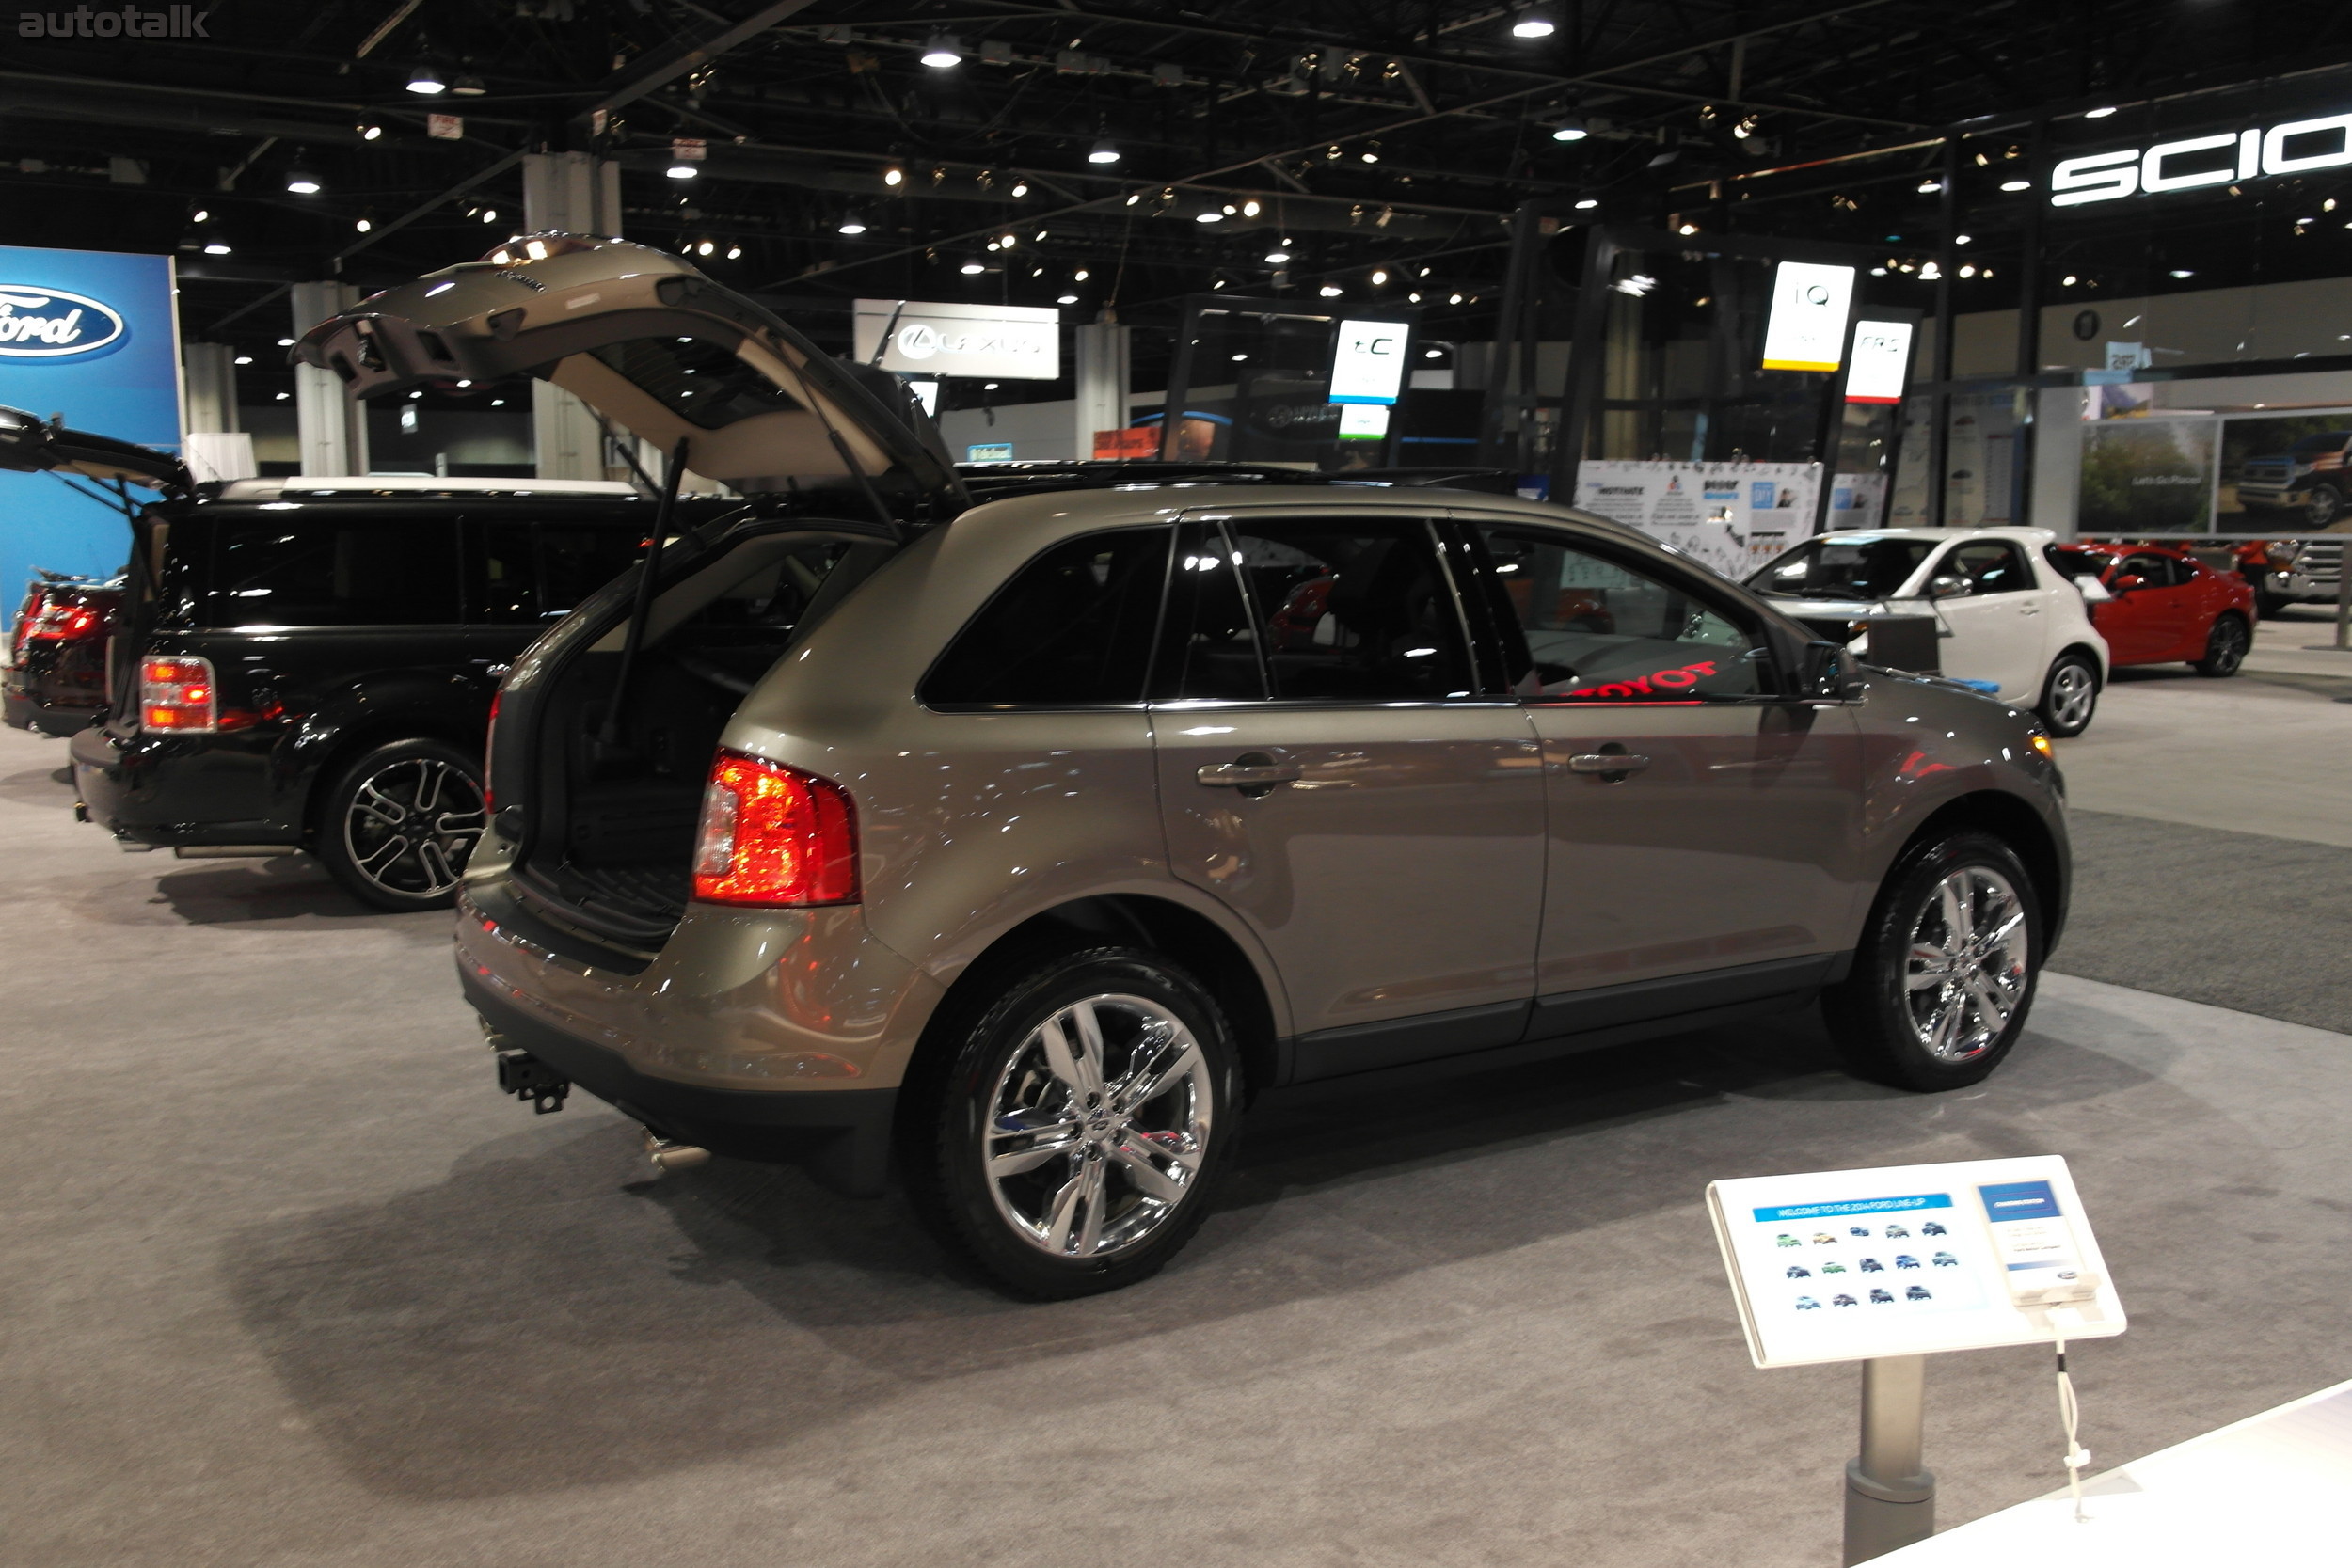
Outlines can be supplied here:
M2107 811L2070 823L2053 969L2352 1032L2352 849Z

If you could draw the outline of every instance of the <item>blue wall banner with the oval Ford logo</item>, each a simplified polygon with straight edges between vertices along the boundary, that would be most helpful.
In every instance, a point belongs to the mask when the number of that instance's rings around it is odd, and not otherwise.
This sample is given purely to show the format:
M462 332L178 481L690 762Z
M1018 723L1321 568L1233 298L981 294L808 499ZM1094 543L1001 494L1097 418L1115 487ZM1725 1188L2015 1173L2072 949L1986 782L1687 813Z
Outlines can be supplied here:
M0 244L0 404L179 451L172 259ZM0 614L35 567L113 576L127 555L115 508L54 475L0 475Z

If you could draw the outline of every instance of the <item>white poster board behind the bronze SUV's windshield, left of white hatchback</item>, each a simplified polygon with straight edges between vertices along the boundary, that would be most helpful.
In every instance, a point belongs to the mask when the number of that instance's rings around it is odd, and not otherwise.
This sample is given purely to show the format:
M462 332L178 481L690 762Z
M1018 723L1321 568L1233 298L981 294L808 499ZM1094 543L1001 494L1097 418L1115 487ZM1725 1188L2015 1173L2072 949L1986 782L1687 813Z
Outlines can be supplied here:
M1736 581L1813 531L1818 487L1818 463L1588 458L1576 470L1576 505Z

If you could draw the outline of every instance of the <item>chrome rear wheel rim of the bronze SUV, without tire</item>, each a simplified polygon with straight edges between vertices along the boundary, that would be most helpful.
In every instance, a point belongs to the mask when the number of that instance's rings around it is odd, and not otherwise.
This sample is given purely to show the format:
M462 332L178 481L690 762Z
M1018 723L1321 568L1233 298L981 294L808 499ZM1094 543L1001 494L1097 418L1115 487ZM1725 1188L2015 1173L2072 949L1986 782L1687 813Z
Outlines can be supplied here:
M1131 1248L1192 1194L1211 1114L1209 1060L1181 1018L1145 997L1073 1001L988 1095L988 1194L1051 1258Z

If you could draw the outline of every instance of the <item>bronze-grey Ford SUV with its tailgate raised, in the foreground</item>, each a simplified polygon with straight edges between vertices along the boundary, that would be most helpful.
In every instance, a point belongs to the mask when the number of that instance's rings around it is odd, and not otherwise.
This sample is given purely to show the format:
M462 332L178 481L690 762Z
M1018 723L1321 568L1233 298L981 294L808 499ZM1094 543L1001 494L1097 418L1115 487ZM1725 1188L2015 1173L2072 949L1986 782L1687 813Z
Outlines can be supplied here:
M1268 1091L1816 999L1856 1072L1976 1084L2058 938L2030 715L1597 517L1152 465L974 503L891 388L621 242L296 353L532 371L746 496L506 677L456 931L501 1086L659 1164L896 1166L1016 1293L1160 1269Z

